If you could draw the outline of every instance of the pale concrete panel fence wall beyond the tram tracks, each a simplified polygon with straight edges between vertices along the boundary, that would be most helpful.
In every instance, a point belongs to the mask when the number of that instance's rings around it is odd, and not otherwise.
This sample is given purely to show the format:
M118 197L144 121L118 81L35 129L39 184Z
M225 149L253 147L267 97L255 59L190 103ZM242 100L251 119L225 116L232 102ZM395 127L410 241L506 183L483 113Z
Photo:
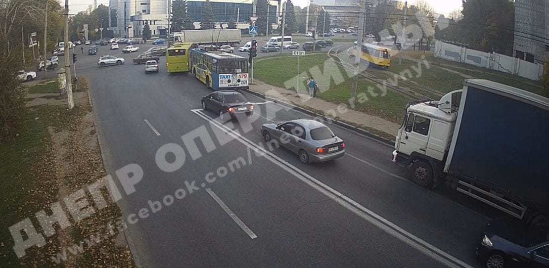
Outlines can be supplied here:
M435 57L453 62L467 63L481 68L506 72L538 81L544 74L544 65L526 62L507 55L475 51L465 47L436 41Z

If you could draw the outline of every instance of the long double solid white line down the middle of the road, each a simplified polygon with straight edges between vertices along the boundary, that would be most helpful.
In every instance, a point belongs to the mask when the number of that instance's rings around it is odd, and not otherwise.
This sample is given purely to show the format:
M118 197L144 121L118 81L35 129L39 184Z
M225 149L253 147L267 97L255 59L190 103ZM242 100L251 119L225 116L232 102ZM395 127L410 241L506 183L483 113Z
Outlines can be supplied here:
M212 119L210 116L202 113L200 109L194 109L191 111L197 114L198 116L200 116L201 118L205 119L206 121L211 122L212 125L215 125L219 129L221 129L223 132L227 133L229 136L236 139L238 142L244 144L244 146L254 150L254 152L256 152L258 155L262 155L263 157L265 157L265 159L271 161L271 163L288 171L290 174L294 175L296 178L298 178L302 182L305 182L307 185L316 189L318 192L324 194L324 196L330 199L333 199L335 202L337 202L344 208L348 209L349 211L356 214L357 216L360 216L362 219L368 221L370 224L380 228L386 233L391 234L391 236L419 250L423 254L430 256L434 260L439 261L439 263L444 264L448 267L456 267L456 268L471 267L472 268L472 266L464 263L460 259L457 259L456 257L444 252L443 250L436 248L434 245L429 244L423 239L417 236L414 236L414 234L393 224L393 222L390 222L384 217L379 216L378 214L365 208L361 204L358 204L357 202L355 202L355 200L352 200L351 198L346 197L344 194L318 181L316 178L298 169L297 167L288 163L287 161L277 157L277 155L269 152L263 147L250 141L248 138L240 135L238 132L235 132L229 129L225 125L222 125L220 122L217 122L216 120Z

